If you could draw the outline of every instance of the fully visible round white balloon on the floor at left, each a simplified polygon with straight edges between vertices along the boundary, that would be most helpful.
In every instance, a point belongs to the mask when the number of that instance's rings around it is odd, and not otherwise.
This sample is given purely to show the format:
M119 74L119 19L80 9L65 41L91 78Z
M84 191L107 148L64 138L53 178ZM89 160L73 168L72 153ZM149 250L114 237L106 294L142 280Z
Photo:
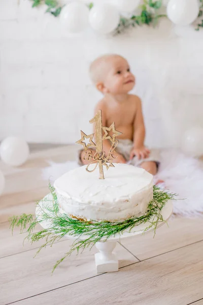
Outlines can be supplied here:
M8 137L0 145L0 156L6 164L20 166L27 161L29 146L21 138Z

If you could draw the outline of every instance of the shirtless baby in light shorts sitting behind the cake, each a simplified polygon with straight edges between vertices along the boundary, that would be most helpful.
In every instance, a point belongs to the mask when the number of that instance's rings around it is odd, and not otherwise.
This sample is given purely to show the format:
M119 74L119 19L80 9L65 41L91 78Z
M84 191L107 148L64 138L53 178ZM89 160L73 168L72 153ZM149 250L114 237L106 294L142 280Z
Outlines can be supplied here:
M144 144L142 103L138 96L129 94L136 80L127 60L116 54L100 56L90 65L90 77L96 88L104 95L96 105L95 113L101 110L103 126L109 127L115 121L116 130L122 132L118 137L117 158L114 159L114 163L140 166L155 175L159 157L155 150L149 150ZM111 145L108 139L103 141L106 156ZM94 149L89 150L93 153ZM88 160L84 160L84 154L84 150L80 151L81 165L89 163Z

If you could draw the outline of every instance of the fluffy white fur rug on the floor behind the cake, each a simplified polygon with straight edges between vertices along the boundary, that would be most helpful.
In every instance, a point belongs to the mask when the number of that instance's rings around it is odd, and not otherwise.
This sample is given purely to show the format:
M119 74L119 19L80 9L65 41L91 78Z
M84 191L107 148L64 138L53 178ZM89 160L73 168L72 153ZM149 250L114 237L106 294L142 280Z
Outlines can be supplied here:
M50 167L42 170L42 176L51 182L65 172L78 167L77 162L73 161L49 162L49 164ZM203 167L200 161L186 157L176 150L162 150L161 166L156 178L163 179L166 189L170 192L179 194L177 197L179 200L174 201L174 214L186 217L201 216Z

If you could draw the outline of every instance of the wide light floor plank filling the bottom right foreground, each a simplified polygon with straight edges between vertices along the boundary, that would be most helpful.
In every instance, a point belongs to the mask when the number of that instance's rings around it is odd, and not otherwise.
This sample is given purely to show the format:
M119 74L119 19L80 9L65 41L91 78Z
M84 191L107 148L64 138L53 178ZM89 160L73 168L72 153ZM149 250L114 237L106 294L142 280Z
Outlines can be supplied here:
M203 297L203 242L16 305L186 305Z

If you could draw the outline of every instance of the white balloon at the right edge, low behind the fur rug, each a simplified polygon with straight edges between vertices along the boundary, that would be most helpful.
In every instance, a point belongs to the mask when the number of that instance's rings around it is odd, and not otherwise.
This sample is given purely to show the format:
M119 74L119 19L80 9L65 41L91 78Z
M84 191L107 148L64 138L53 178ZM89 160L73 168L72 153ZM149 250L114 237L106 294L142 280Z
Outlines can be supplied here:
M182 150L192 157L203 155L203 128L193 127L185 132L182 138Z

